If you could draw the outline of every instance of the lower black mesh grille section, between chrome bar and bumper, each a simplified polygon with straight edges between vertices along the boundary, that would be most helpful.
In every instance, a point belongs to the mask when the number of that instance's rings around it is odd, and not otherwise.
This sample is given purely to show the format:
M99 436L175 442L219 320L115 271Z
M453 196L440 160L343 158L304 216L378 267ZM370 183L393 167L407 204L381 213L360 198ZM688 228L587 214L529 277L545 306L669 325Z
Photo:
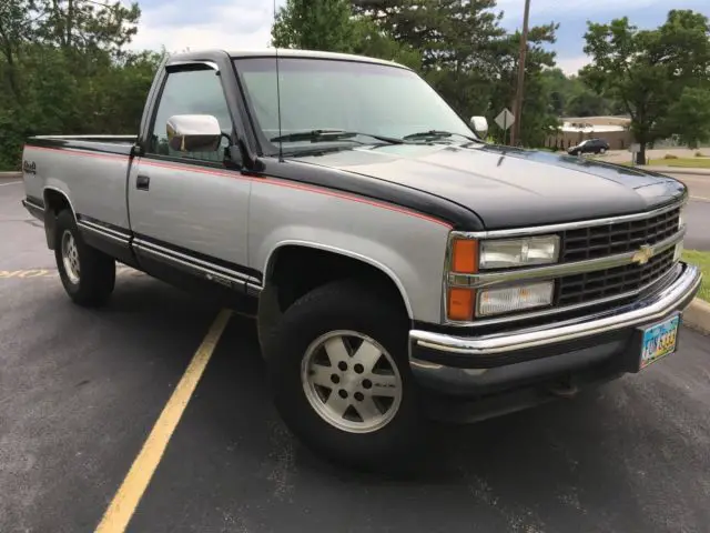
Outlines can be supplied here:
M638 291L672 268L673 253L674 248L671 248L643 265L627 264L558 278L556 304L572 305Z

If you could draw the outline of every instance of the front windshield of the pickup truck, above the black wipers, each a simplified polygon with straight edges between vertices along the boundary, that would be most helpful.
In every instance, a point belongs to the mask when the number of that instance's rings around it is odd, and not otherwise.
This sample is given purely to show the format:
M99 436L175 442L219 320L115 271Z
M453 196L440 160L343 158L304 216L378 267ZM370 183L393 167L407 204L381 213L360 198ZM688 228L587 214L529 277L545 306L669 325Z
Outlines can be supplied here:
M327 141L345 148L381 143L368 134L402 139L433 130L476 139L436 91L409 70L304 58L278 59L280 131L275 58L237 59L235 66L262 142L271 153L277 150L277 141L271 140L280 135L284 151L312 150L313 139L284 135L314 130L361 133Z

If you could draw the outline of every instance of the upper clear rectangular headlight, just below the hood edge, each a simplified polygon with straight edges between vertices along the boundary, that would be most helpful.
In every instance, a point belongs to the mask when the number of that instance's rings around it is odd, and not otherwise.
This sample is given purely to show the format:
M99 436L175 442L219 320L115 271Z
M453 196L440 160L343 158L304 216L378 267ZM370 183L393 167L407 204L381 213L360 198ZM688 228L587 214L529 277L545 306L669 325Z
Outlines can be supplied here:
M480 269L507 269L557 262L559 237L528 237L480 242Z

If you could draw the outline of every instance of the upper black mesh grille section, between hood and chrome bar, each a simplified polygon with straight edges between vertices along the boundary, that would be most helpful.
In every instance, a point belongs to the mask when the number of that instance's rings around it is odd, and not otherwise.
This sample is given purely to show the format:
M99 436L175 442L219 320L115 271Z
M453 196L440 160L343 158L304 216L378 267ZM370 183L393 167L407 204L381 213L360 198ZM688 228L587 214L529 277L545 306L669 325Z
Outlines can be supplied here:
M676 208L643 220L564 231L560 262L605 258L656 244L674 234L679 222L680 208Z

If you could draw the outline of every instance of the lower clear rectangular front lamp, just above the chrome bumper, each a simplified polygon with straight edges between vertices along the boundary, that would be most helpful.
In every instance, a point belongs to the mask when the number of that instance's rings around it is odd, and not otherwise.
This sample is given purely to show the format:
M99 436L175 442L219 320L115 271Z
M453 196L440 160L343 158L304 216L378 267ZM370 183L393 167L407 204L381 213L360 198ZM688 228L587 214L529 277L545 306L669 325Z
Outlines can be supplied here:
M478 294L478 316L525 311L552 304L551 281L506 286L504 289L484 289Z

